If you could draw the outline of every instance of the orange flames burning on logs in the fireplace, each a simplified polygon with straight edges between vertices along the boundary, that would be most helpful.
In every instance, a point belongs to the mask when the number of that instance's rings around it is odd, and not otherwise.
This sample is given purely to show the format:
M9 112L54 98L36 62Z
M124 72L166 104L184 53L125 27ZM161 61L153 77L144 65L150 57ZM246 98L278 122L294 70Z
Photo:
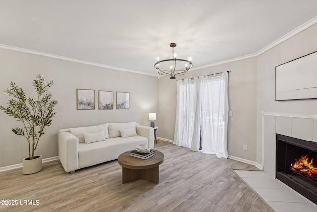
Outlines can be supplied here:
M295 163L291 163L291 170L297 173L301 173L306 177L311 178L314 181L317 181L317 167L313 165L314 158L310 161L308 157L302 155L300 159L295 159Z

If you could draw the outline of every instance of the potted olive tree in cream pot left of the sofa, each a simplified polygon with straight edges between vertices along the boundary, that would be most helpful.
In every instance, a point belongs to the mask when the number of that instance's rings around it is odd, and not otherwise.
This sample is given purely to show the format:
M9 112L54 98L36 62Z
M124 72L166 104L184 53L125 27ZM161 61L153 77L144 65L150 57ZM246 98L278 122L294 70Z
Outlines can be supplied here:
M23 88L11 82L10 87L4 92L13 98L6 105L0 105L0 109L9 116L22 122L21 128L13 128L12 131L18 136L24 137L28 145L29 157L23 159L23 174L33 174L42 170L42 156L34 155L44 129L50 126L55 116L54 106L56 100L51 100L52 94L48 92L53 81L44 82L41 75L33 80L33 87L37 93L35 99L27 97Z

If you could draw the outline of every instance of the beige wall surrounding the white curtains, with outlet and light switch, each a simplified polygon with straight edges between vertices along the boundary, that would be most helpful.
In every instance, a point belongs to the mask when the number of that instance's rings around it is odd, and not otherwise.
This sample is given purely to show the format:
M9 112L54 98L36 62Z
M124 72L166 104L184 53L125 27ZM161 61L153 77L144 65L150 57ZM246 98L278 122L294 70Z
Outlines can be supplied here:
M194 63L194 62L193 62ZM249 58L205 69L188 71L177 79L230 71L228 123L228 153L231 156L256 161L256 85L257 59ZM174 139L176 113L176 80L159 80L159 136ZM243 151L243 144L248 151Z

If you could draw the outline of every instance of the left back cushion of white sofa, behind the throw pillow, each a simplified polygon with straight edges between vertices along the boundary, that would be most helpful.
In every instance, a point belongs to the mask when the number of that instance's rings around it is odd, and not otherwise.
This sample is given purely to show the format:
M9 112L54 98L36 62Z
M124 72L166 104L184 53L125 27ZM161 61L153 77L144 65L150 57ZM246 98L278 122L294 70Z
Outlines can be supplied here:
M105 139L109 138L108 126L109 123L89 127L69 128L69 132L76 136L80 143L83 143L85 142L84 133L97 133L104 131Z

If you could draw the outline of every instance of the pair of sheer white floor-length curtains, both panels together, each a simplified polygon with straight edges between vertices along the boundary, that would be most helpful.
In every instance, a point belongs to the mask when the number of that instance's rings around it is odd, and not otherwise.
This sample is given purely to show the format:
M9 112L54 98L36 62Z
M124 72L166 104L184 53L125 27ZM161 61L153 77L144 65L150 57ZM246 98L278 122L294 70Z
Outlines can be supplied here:
M228 73L177 81L174 143L228 158Z

